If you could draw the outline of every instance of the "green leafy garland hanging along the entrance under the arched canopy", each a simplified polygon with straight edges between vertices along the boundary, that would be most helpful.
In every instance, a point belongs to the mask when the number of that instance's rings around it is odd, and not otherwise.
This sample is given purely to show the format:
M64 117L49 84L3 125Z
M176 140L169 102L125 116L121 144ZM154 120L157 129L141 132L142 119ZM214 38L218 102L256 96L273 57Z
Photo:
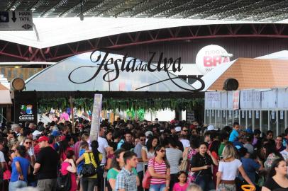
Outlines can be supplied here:
M77 109L92 110L93 98L73 98L74 107ZM146 98L146 99L113 99L104 98L102 108L104 110L195 110L199 106L204 107L204 98L184 99L184 98ZM38 110L48 111L50 108L69 108L69 98L54 98L38 100Z

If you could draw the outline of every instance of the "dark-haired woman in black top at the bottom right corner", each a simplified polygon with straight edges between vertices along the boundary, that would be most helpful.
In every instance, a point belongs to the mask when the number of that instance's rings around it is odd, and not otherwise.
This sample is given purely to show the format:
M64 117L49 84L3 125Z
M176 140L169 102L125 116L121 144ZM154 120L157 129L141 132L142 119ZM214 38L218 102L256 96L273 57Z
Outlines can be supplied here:
M262 186L262 191L288 190L287 163L282 158L273 161L268 180Z

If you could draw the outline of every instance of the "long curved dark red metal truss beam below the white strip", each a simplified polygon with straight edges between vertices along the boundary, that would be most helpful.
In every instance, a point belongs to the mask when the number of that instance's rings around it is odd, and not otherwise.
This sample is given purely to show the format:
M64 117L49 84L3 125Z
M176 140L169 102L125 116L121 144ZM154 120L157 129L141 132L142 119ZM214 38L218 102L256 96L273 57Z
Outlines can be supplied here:
M76 54L94 50L113 50L135 45L149 45L156 42L226 37L288 38L288 28L287 25L275 23L181 26L122 33L45 49L27 47L13 42L2 42L0 43L0 55L17 58L19 61L57 62Z

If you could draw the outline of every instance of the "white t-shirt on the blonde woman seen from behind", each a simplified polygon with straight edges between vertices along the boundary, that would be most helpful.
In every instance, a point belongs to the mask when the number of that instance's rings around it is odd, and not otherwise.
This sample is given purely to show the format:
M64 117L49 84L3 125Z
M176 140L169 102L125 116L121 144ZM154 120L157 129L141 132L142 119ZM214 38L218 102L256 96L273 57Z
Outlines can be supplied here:
M222 173L221 180L235 180L240 166L242 166L242 163L238 159L231 162L220 161L218 172Z

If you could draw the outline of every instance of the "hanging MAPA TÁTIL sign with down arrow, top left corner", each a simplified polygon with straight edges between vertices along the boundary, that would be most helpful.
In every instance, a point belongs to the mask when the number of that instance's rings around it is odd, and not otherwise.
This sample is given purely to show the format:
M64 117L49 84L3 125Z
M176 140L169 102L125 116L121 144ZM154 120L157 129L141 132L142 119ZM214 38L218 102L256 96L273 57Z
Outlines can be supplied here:
M0 30L33 30L32 11L0 11Z

